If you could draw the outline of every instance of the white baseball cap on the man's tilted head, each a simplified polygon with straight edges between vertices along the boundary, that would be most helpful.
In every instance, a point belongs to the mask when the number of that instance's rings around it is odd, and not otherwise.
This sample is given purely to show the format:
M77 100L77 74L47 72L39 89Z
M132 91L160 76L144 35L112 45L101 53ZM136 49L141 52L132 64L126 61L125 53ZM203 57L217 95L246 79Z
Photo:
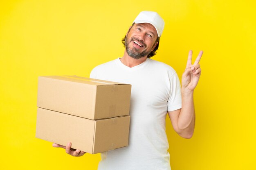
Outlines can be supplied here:
M164 20L160 17L160 15L153 11L142 11L135 18L134 22L136 24L140 23L149 23L152 24L157 30L157 35L160 37L164 30Z

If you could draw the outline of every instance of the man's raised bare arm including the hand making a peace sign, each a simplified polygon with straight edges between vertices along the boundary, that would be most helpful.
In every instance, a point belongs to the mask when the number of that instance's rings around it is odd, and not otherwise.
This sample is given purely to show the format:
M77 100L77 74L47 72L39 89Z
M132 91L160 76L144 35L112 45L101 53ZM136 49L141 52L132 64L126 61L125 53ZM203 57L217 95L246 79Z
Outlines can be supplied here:
M191 138L195 129L195 108L193 101L193 92L198 84L201 68L199 61L203 51L200 51L198 57L192 65L192 50L189 51L189 57L186 69L181 79L182 109L169 113L175 131L182 137Z

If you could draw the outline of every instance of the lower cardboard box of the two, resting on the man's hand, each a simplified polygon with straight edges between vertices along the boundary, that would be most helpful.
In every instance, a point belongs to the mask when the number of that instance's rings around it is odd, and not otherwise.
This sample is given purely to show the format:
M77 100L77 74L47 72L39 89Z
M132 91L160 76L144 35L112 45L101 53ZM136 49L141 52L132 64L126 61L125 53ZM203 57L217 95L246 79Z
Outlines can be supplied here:
M90 120L38 108L36 137L95 154L128 146L130 116Z

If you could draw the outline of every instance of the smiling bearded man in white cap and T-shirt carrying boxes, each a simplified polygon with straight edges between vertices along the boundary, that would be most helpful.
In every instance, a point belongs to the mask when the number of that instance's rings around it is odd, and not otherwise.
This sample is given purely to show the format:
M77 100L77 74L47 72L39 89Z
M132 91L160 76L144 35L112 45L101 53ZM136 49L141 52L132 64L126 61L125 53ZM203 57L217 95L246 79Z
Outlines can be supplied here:
M202 57L192 64L192 51L182 74L182 87L175 70L150 59L156 54L164 20L153 11L142 11L123 39L124 56L95 67L91 78L132 85L130 101L130 135L127 147L101 153L98 170L171 170L166 114L174 130L191 138L195 127L193 91L198 84ZM83 151L62 147L72 156Z

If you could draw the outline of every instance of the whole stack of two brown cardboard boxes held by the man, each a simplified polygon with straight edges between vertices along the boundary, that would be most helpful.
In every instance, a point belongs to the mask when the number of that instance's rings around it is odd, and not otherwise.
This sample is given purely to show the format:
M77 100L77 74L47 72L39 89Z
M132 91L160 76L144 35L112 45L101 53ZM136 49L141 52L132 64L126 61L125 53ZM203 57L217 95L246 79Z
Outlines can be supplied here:
M130 92L123 83L40 76L36 137L92 154L127 146Z

